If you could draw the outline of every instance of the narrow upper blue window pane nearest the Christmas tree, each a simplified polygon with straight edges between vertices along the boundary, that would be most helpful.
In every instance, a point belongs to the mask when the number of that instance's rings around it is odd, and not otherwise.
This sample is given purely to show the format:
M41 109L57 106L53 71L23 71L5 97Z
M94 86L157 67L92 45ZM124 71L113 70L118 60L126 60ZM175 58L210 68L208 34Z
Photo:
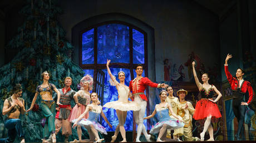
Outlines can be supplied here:
M94 28L82 34L82 64L94 63Z

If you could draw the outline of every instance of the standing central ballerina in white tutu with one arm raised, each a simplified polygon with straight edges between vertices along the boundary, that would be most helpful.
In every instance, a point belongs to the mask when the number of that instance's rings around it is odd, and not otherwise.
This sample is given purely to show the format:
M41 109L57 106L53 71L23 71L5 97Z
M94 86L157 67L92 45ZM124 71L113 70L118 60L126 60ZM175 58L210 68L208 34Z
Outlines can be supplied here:
M111 142L114 142L116 140L116 137L119 133L119 130L121 132L123 140L121 142L126 142L126 136L125 136L125 120L127 116L127 111L138 111L140 110L140 106L135 103L134 101L129 101L128 98L131 96L130 89L128 86L125 85L125 73L119 72L118 78L120 80L120 83L116 81L116 77L111 74L111 71L109 69L109 63L110 60L107 59L107 72L110 75L110 84L112 86L116 86L116 89L119 94L119 99L117 101L112 101L109 103L106 103L104 107L106 108L113 108L116 110L117 118L119 120L119 124L116 126L115 134L112 136Z

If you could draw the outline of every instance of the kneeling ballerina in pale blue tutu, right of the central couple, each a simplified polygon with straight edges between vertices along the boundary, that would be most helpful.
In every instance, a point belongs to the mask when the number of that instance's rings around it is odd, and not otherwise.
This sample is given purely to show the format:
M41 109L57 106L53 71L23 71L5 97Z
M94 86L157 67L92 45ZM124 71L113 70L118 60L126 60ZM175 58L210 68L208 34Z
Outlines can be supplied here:
M171 109L171 105L165 102L165 99L167 97L167 91L163 90L160 92L159 96L160 96L160 100L161 103L160 104L156 104L155 106L155 110L153 111L153 113L147 117L144 118L145 119L150 119L152 117L155 116L155 114L157 114L157 117L159 119L159 122L157 122L152 129L150 130L150 134L157 134L159 132L159 135L157 137L156 141L161 141L161 137L164 135L165 131L167 129L179 129L180 127L184 126L184 121L180 116L177 116L173 109ZM169 116L169 112L171 113L171 115L174 116L174 118L170 118Z

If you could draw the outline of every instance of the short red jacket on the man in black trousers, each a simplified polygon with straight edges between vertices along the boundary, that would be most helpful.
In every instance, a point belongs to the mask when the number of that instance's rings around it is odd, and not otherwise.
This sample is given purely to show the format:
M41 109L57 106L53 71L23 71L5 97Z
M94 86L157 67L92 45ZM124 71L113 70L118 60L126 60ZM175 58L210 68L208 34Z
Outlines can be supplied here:
M229 73L228 71L228 65L225 65L225 74L227 76L227 79L231 85L231 89L232 91L237 91L238 87L239 87L239 81L237 78L234 78L232 76L232 74ZM249 100L247 101L248 104L252 103L253 98L254 98L254 91L252 86L250 85L249 81L244 80L242 85L240 86L241 88L241 93L246 93L246 91L248 91L249 93Z

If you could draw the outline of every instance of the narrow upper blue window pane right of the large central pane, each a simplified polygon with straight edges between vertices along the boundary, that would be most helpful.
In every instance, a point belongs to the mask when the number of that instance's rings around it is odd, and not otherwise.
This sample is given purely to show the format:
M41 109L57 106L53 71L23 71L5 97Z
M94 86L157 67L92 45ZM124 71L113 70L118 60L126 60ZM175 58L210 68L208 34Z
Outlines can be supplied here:
M132 48L134 64L144 64L144 34L132 29Z

